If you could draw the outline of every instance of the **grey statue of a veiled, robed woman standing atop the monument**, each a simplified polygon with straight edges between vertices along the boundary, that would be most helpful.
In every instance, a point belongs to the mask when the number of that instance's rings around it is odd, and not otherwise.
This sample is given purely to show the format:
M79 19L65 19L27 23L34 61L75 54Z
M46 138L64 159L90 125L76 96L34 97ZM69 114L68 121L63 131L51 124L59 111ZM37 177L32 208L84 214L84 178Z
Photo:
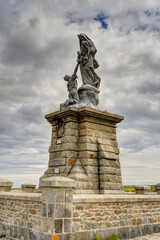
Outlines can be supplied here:
M95 73L94 69L99 67L95 54L97 49L92 40L84 33L78 35L80 43L80 51L77 52L77 61L80 64L80 71L82 75L82 83L90 84L93 87L99 88L100 77Z

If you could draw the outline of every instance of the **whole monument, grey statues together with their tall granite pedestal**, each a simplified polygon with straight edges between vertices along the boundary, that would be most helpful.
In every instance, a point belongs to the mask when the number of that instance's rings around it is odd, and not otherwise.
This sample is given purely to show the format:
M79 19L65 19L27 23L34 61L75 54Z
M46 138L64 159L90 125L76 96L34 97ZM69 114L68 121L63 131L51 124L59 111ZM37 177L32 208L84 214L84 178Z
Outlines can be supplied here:
M71 76L65 75L68 99L60 110L46 115L52 125L48 169L40 180L53 176L76 181L75 193L123 191L116 124L122 116L98 108L100 77L96 47L79 34L80 51ZM80 68L82 86L77 86ZM41 186L41 181L40 181Z

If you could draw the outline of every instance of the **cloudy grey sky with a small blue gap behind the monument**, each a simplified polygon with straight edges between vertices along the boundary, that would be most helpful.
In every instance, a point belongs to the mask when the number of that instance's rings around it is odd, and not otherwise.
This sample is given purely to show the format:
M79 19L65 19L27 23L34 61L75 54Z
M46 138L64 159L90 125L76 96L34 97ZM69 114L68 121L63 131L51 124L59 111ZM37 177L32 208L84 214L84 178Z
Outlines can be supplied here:
M97 48L99 107L118 124L123 184L160 182L159 0L0 0L0 178L38 185L51 126L85 33ZM78 85L81 76L78 73Z

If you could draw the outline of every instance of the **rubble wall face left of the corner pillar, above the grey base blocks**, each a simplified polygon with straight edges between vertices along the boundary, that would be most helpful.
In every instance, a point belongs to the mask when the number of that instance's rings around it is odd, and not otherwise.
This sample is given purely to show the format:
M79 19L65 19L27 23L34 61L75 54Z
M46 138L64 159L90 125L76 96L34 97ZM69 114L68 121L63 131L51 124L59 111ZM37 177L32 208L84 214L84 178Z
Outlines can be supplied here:
M0 221L38 230L41 216L39 194L18 194L16 192L0 195Z

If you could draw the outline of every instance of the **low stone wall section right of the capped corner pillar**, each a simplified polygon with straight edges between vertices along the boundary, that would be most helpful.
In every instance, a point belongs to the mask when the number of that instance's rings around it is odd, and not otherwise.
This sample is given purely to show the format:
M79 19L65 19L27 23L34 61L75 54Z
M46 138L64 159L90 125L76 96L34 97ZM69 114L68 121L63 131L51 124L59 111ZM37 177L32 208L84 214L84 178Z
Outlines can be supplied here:
M92 239L96 233L125 239L160 232L160 196L74 196L72 221L77 239Z

